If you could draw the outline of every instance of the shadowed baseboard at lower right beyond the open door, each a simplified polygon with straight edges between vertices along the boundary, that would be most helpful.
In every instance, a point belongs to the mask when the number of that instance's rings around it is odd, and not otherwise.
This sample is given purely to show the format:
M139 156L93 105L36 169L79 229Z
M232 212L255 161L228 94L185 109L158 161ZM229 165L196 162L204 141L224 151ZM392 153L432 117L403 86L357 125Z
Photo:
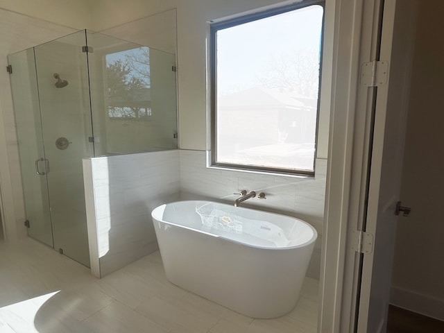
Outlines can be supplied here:
M400 287L391 287L390 303L409 311L444 321L444 300L416 293Z

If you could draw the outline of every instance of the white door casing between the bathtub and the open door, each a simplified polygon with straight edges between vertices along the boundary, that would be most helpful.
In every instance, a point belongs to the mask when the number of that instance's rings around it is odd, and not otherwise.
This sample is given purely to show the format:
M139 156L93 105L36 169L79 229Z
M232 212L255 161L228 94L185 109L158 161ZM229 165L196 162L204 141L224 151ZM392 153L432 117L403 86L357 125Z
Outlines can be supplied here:
M361 258L353 232L365 216L373 89L360 68L375 60L379 0L336 0L333 88L321 258L318 332L353 332Z

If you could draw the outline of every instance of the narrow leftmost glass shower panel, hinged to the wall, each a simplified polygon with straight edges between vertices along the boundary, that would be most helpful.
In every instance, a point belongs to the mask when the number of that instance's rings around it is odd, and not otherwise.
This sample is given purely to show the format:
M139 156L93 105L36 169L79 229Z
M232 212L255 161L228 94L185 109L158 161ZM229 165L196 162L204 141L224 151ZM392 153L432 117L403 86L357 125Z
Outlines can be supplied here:
M28 235L53 246L34 50L8 56Z

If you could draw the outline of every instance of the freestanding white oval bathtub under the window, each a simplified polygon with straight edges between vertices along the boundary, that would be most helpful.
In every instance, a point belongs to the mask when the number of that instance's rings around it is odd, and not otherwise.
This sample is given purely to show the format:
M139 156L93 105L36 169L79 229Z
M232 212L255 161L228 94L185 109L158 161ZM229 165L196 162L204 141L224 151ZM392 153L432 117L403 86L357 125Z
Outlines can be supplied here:
M253 318L296 306L317 237L299 219L208 201L151 213L167 278Z

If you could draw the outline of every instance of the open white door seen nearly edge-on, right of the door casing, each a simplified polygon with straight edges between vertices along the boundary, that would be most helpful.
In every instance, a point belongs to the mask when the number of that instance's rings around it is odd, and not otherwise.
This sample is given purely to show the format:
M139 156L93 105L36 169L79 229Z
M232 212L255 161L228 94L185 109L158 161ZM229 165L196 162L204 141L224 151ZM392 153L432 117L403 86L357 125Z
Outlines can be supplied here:
M378 87L375 103L366 216L366 232L374 235L375 244L361 265L357 332L386 330L417 4L417 0L384 1L379 56L391 64L386 84Z

